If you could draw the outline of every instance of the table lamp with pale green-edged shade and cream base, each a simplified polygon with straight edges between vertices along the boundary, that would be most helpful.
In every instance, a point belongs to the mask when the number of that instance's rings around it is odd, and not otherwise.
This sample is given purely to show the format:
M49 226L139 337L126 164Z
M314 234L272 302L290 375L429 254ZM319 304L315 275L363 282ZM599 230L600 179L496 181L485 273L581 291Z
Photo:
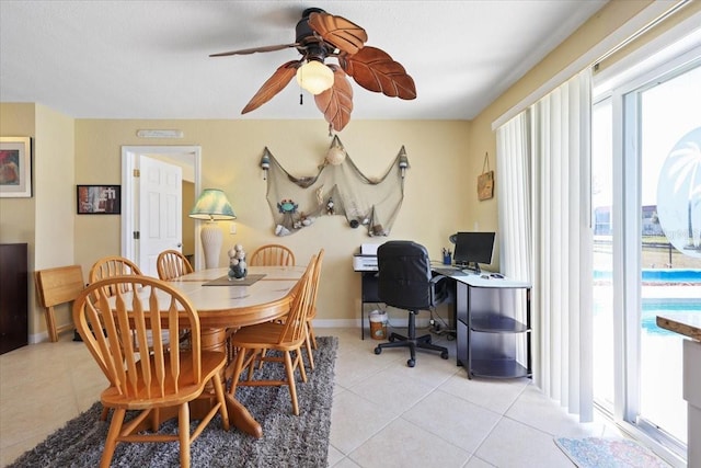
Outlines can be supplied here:
M205 251L205 267L218 267L223 235L216 221L235 219L237 217L227 195L218 189L205 189L188 216L194 219L207 220L199 231L202 247Z

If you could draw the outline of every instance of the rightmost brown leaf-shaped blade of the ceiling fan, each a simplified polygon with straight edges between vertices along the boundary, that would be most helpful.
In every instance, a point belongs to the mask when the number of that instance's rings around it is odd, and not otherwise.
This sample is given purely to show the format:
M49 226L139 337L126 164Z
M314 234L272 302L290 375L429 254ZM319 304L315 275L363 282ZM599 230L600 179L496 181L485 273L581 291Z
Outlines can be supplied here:
M384 50L363 47L357 54L338 57L341 67L368 91L390 98L416 99L414 79Z

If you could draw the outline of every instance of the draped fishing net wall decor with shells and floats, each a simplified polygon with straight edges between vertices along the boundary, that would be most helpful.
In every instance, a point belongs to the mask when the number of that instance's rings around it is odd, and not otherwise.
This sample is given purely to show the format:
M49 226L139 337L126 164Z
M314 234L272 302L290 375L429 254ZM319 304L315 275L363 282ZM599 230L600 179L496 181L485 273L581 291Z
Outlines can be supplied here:
M350 228L364 226L369 236L388 236L404 198L409 162L402 147L384 175L368 178L335 136L317 175L290 174L267 147L261 165L267 172L267 202L277 236L304 230L322 216L345 216Z

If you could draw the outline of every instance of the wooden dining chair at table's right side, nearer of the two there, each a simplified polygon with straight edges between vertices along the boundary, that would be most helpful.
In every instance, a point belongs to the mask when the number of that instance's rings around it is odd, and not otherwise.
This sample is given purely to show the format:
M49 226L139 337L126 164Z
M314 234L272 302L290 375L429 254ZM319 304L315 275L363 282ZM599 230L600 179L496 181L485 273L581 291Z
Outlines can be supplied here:
M230 338L231 346L235 351L233 376L231 378L230 393L235 395L238 386L283 386L289 388L292 413L299 415L297 401L297 387L295 384L295 370L299 369L302 381L307 381L307 373L301 358L301 350L307 336L307 315L312 296L312 278L317 255L312 256L303 276L297 286L290 292L294 295L289 312L284 321L272 321L240 328ZM269 354L266 351L277 351L279 354ZM266 363L276 362L285 365L285 379L265 380L256 379L254 364L256 359ZM248 368L248 376L240 380L241 374ZM258 370L260 372L260 370Z

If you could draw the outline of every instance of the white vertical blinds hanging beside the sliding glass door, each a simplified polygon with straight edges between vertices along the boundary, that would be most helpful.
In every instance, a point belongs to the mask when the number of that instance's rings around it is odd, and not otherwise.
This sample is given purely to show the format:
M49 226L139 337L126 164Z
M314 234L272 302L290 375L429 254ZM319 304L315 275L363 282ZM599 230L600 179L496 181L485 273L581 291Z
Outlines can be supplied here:
M533 380L591 421L591 76L572 78L497 129L501 267L530 279Z

